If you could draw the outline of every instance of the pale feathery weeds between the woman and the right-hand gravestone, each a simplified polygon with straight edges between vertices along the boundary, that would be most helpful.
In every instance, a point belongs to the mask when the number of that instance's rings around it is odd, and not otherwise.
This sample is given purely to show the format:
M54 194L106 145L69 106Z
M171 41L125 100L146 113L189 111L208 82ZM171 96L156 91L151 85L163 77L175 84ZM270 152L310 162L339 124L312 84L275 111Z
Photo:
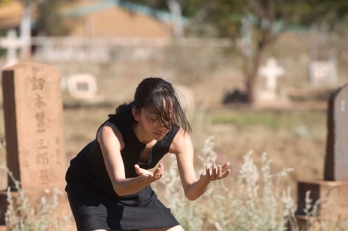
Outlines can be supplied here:
M197 156L201 166L197 171L199 174L205 171L205 166L216 162L212 139L213 137L208 137L205 140L203 149ZM159 198L171 207L173 214L187 231L299 230L295 216L297 207L290 188L283 189L280 184L292 169L272 173L267 153L262 154L261 166L258 168L252 154L249 152L244 155L244 162L235 176L211 182L205 194L196 202L191 202L182 195L180 176L173 157L163 180L155 185ZM237 166L232 164L233 168ZM308 206L311 203L308 200ZM309 215L315 214L312 212ZM308 223L307 230L310 230L310 225Z

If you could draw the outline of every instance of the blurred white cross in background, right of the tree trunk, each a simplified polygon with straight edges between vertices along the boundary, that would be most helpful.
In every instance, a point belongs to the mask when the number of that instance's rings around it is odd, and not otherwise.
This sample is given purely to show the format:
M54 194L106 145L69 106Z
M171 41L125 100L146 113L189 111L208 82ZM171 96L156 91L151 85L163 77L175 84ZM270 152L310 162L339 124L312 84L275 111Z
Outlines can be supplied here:
M276 64L276 59L269 58L266 65L260 68L259 74L266 78L266 89L275 92L277 87L277 78L283 76L284 69Z

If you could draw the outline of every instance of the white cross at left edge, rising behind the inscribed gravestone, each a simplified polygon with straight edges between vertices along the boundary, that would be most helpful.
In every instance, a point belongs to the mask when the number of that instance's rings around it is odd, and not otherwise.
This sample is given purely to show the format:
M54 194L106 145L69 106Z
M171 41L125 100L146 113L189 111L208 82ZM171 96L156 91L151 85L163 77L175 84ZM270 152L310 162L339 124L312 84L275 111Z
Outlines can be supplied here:
M7 49L6 64L3 68L15 65L17 60L17 49L22 46L22 40L17 37L15 30L10 30L6 38L0 39L0 46Z

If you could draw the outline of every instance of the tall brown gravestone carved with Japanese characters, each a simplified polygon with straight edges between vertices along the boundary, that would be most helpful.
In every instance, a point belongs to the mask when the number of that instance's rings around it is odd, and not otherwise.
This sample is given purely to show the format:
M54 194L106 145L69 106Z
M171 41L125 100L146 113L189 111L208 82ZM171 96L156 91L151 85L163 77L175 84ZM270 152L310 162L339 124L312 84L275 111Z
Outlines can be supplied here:
M31 198L38 199L54 188L63 189L65 155L58 69L19 63L3 70L2 85L8 168Z

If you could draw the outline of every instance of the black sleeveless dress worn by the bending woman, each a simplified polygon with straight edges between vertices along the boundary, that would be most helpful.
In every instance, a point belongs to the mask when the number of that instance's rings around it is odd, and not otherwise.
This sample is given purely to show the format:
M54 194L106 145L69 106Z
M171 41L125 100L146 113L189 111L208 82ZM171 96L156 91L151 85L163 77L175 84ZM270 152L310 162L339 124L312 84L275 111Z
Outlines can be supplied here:
M173 126L168 134L152 147L148 163L141 164L139 158L145 144L136 138L132 123L125 117L116 115L107 121L116 125L125 142L121 155L126 178L138 176L134 164L139 164L143 169L155 167L168 153L169 146L178 131L177 126ZM116 194L97 139L86 145L70 161L65 179L67 182L65 191L79 231L141 230L179 225L170 209L159 201L150 185L135 194L126 196Z

